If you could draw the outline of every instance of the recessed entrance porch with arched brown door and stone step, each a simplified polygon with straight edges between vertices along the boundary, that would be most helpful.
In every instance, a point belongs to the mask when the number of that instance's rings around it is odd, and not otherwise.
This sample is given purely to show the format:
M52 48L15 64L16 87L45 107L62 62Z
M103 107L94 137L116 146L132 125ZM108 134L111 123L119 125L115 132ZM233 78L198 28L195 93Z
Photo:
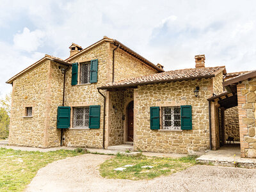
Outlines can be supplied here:
M105 146L111 150L133 150L134 89L115 89L106 93Z

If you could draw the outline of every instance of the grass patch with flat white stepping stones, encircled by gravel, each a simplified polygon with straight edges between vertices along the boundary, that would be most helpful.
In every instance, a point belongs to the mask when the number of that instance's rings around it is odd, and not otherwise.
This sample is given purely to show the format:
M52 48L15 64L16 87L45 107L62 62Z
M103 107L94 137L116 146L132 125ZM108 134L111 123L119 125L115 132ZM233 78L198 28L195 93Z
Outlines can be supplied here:
M196 157L188 156L179 159L164 157L127 157L117 155L100 165L100 174L108 179L154 179L161 175L170 175L175 172L185 170L196 164ZM124 167L126 164L133 166L127 167L123 171L115 171L114 168ZM153 168L141 168L141 166L154 166Z

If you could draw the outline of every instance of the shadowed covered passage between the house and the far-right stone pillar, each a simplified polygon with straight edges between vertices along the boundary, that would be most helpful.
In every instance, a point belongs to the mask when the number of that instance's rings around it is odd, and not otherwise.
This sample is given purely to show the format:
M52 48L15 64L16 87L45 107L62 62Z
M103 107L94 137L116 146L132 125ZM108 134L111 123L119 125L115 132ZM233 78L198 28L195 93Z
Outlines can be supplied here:
M236 88L232 93L223 92L220 95L214 95L208 100L211 118L211 149L218 150L227 143L235 145L236 142L236 145L239 145L239 115ZM234 125L230 126L231 123Z

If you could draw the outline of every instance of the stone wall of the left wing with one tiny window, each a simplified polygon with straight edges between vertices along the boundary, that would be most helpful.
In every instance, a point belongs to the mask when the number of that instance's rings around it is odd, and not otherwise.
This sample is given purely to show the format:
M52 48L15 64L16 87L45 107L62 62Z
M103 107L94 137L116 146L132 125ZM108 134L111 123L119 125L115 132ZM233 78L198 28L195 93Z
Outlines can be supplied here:
M46 60L13 81L9 144L48 147L45 127L50 61ZM32 116L26 117L26 107Z

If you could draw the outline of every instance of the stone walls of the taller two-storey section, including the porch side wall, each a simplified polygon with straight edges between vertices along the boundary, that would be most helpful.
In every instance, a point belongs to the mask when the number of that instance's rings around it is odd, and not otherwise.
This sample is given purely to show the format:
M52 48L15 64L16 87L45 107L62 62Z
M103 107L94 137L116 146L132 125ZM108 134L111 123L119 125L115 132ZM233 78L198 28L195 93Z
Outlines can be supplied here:
M104 42L94 49L73 58L70 62L84 62L98 59L98 82L92 84L77 84L71 86L72 70L67 72L65 106L90 106L100 105L100 129L68 129L65 131L65 141L63 145L69 147L102 147L102 127L103 127L103 98L97 92L97 87L104 86L112 82L112 53L113 45ZM157 71L145 66L140 60L127 54L120 49L115 51L115 81ZM79 78L78 78L79 81ZM106 109L106 147L108 145L118 145L124 143L124 120L122 120L125 92L101 91L108 95L108 109ZM118 110L115 113L113 105ZM72 113L72 112L71 112ZM72 119L72 116L71 116ZM71 123L72 125L72 123Z

